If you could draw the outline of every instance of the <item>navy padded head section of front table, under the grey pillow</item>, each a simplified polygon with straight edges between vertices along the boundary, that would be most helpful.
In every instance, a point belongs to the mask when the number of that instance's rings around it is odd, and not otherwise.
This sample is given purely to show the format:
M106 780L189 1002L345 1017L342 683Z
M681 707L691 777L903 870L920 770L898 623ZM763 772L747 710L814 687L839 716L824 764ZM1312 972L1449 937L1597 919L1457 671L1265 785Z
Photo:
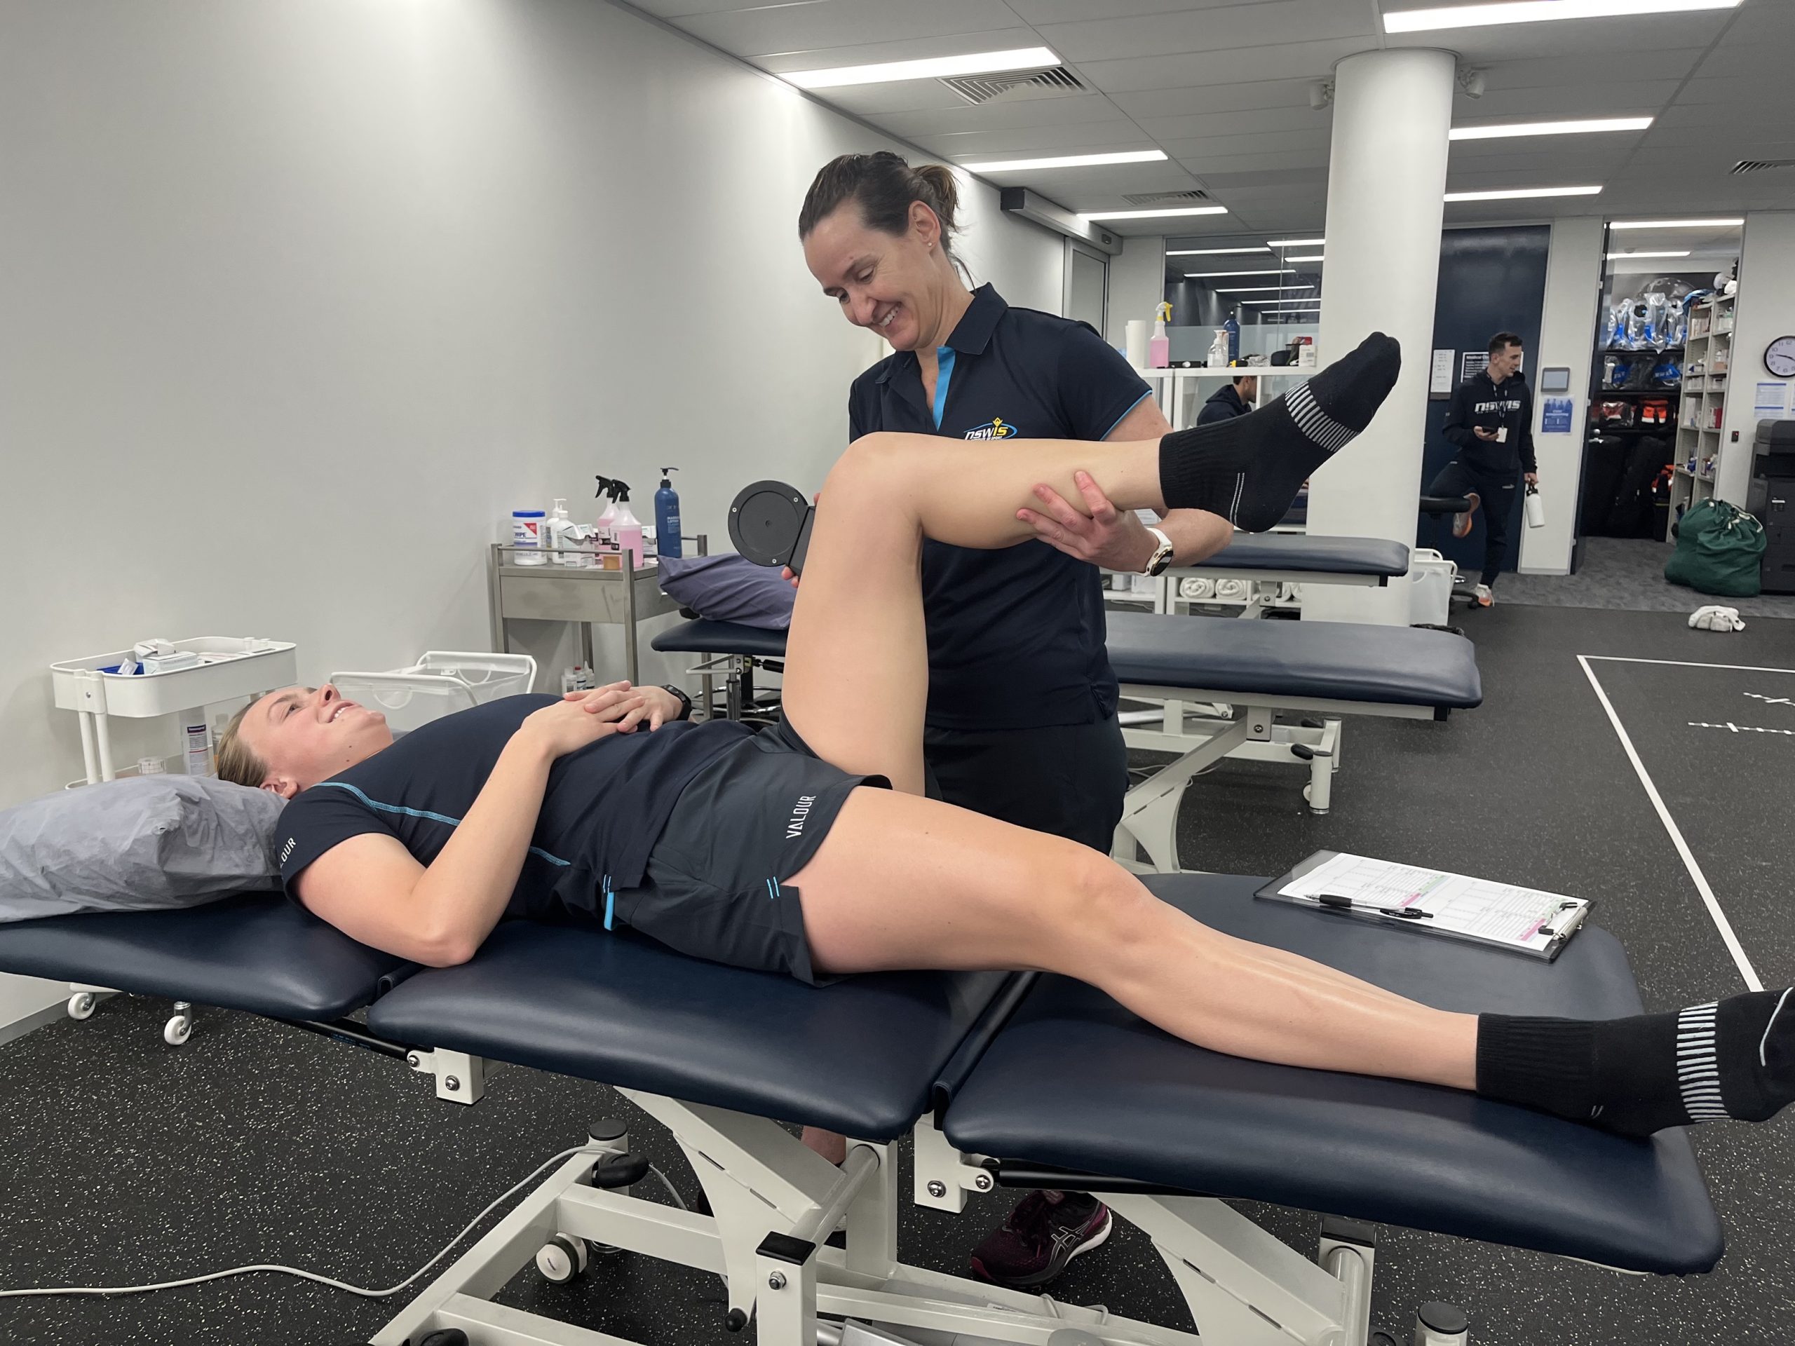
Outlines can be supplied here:
M4 973L275 1019L341 1018L372 1005L411 967L271 892L178 912L93 912L0 926Z

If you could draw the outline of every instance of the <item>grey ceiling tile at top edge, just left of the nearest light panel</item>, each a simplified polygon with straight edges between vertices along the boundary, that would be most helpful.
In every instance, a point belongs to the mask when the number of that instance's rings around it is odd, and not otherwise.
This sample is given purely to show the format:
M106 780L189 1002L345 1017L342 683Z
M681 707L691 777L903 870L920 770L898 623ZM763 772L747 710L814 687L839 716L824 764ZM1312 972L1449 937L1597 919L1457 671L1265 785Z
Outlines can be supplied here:
M1292 32L1303 34L1307 41L1361 38L1366 45L1375 45L1371 13L1339 0L1267 0L1258 5L1041 27L1041 36L1055 52L1081 63L1237 47L1282 47L1289 43Z

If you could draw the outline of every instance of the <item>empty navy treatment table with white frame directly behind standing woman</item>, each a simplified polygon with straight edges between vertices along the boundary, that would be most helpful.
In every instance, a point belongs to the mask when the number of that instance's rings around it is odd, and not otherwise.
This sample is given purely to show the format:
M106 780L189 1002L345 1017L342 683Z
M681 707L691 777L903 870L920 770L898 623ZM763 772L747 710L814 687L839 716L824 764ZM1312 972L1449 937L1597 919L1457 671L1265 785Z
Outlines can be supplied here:
M1303 766L1303 799L1327 813L1341 761L1339 716L1445 720L1483 702L1475 646L1450 632L1147 612L1111 612L1108 623L1122 696L1160 704L1156 729L1124 730L1129 747L1179 754L1129 790L1116 829L1116 858L1133 865L1140 845L1160 872L1179 869L1185 788L1222 757ZM784 632L691 621L661 632L653 646L704 655L693 671L716 673L725 662L729 712L740 714L754 668L784 655Z

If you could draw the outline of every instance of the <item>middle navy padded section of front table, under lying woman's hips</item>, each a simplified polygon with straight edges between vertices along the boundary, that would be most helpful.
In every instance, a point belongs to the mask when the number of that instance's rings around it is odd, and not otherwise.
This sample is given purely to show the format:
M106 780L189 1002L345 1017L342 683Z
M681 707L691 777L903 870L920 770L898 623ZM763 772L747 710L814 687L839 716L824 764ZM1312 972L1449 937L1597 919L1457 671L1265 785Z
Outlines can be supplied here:
M384 1037L894 1140L1005 973L881 973L831 987L700 962L639 935L501 924L460 967L368 1012Z

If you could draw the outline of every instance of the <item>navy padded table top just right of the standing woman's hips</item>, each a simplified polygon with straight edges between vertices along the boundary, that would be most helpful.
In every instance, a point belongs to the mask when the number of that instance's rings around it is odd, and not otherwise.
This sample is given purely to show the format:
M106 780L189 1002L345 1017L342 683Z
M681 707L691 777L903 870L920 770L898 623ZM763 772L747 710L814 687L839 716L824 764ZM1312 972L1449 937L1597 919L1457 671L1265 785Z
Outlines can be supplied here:
M1477 648L1463 635L1348 621L1239 621L1109 614L1120 682L1239 696L1470 709L1483 702Z

